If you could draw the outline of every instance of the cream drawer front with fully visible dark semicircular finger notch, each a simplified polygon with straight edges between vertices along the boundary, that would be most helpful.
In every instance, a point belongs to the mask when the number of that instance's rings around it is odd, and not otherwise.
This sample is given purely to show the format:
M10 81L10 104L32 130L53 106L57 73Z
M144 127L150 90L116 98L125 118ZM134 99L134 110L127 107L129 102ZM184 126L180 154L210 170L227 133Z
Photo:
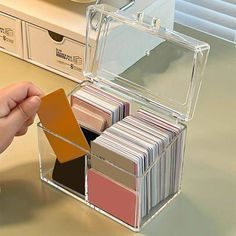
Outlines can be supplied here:
M60 34L27 23L28 59L82 78L85 45Z

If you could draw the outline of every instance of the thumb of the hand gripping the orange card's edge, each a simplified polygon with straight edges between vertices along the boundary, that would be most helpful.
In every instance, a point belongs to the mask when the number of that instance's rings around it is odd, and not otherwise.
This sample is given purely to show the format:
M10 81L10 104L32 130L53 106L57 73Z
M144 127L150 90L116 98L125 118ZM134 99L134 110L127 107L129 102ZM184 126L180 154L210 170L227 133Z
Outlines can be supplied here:
M7 123L12 133L17 133L24 123L36 114L40 103L40 97L32 96L25 99L11 111L7 117Z

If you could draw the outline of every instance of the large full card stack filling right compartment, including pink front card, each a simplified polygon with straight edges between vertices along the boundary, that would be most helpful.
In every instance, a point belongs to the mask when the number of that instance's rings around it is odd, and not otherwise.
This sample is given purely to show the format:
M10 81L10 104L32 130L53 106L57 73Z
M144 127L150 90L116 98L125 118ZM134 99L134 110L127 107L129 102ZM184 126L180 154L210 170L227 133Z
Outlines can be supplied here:
M127 220L127 201L134 214L138 212L137 202L140 201L141 216L144 217L178 191L183 130L181 124L172 124L140 109L104 131L91 143L94 155L88 171L89 201L135 226L134 215L129 215ZM97 190L94 183L100 183ZM102 196L104 189L106 194ZM108 193L109 189L116 190ZM118 195L116 200L111 197L114 191Z

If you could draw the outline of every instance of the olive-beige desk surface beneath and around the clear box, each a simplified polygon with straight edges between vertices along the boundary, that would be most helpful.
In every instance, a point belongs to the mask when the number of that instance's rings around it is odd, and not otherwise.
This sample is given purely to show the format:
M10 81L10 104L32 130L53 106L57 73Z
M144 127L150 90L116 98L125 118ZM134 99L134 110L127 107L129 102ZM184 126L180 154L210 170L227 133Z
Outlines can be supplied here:
M36 123L0 156L0 235L236 235L236 48L211 44L194 119L188 125L180 196L135 234L39 179ZM0 53L0 87L30 80L46 93L75 83Z

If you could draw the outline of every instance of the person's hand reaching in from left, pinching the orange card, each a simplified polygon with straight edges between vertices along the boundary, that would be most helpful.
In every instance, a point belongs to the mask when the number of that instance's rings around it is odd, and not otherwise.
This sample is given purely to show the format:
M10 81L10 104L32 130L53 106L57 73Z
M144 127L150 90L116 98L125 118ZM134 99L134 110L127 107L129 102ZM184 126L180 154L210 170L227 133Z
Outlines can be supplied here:
M0 89L0 153L33 124L43 93L30 82Z

